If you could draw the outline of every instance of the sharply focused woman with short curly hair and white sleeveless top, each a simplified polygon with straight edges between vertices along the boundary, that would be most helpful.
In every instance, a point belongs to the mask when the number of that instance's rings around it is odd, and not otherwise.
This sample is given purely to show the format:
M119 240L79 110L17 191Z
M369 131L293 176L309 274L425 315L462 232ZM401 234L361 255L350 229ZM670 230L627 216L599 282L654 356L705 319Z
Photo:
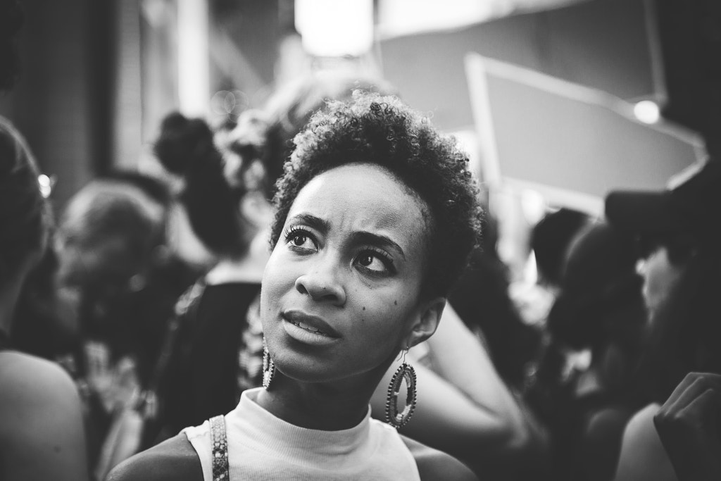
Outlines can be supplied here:
M477 242L464 154L394 97L357 94L296 137L275 207L261 295L266 389L108 479L475 479L368 407L391 363L435 331ZM399 376L410 405L389 389L396 425L415 403L410 368Z

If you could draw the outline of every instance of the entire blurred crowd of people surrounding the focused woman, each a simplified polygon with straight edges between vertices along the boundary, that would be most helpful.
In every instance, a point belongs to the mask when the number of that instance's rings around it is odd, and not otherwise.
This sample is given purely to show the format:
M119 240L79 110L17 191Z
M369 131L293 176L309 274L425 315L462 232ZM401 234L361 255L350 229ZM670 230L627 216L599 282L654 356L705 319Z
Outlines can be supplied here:
M262 384L275 181L311 113L356 89L403 94L318 74L223 125L169 113L159 174L110 172L57 213L0 119L0 479L103 480ZM400 432L482 480L721 479L720 167L611 192L603 219L547 208L532 299L511 295L486 206L441 327L408 353L420 394Z

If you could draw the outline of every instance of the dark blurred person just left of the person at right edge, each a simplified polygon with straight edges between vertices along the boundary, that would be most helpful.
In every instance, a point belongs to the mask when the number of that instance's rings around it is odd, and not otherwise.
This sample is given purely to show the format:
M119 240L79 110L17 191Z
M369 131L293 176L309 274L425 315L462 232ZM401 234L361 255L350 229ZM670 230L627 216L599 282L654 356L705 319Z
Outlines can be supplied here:
M594 223L571 240L562 264L551 343L531 392L553 434L556 480L614 475L645 332L635 256L631 236Z

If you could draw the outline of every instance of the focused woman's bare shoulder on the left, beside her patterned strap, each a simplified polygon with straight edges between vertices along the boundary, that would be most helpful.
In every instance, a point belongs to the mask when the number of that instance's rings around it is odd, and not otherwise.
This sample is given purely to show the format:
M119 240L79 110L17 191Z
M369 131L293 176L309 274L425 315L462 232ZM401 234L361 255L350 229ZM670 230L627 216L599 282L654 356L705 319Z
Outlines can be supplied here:
M200 459L185 434L163 441L118 464L105 481L203 481Z

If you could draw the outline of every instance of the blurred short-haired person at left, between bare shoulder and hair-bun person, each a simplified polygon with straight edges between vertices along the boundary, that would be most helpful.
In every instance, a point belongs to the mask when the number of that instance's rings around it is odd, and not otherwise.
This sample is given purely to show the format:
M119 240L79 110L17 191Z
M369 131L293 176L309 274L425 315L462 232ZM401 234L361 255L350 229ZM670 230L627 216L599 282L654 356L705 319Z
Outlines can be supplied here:
M75 193L58 222L59 296L79 345L66 366L84 395L97 479L141 444L164 332L195 278L167 247L168 202L158 181L111 172Z

